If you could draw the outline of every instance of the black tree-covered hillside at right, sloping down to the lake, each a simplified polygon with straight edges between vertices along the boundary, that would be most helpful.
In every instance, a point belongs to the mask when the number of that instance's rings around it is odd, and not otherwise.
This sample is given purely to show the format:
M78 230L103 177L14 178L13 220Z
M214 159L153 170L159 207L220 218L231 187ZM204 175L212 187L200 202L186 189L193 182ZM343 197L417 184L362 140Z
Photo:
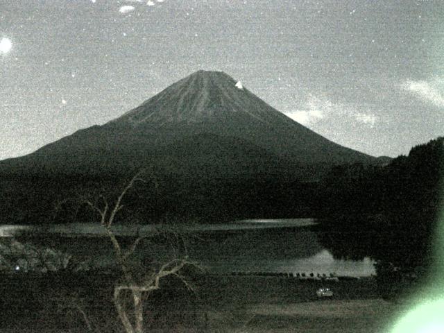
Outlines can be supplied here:
M443 137L384 167L335 167L318 198L323 243L337 257L373 257L379 271L427 271L434 259L443 176Z

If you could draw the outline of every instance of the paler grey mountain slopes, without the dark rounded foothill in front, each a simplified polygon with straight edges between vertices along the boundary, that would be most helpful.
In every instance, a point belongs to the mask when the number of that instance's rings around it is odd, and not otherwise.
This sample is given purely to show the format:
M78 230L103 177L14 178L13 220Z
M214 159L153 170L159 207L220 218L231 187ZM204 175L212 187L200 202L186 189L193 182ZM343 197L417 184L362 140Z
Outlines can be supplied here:
M375 157L314 133L236 84L223 72L198 71L103 126L79 130L31 155L1 162L0 167L32 164L74 173L76 169L125 169L125 164L140 167L156 163L153 151L159 147L164 147L164 155L173 155L168 146L193 136L203 139L203 134L221 140L236 138L232 151L242 150L243 145L257 146L257 153L267 151L276 162L283 160L298 167L377 162ZM205 156L214 153L202 152ZM182 156L182 167L187 169L190 163L194 164L191 157Z

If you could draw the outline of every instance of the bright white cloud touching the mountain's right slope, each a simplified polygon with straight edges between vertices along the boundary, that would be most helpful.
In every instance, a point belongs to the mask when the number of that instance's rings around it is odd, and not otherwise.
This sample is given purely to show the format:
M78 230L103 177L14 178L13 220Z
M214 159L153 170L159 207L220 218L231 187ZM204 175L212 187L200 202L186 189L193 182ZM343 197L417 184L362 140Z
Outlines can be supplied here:
M300 110L287 112L286 115L294 121L302 123L302 125L309 125L325 118L332 106L332 102L319 99L318 97L309 94L307 101L302 105Z

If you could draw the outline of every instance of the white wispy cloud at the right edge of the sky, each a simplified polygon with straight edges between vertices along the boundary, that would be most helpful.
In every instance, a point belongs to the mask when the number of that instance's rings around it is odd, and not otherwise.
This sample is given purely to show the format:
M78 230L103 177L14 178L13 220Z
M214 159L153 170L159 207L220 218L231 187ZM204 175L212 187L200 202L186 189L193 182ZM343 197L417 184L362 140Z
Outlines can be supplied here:
M432 80L430 82L407 80L400 87L422 101L444 108L443 80Z

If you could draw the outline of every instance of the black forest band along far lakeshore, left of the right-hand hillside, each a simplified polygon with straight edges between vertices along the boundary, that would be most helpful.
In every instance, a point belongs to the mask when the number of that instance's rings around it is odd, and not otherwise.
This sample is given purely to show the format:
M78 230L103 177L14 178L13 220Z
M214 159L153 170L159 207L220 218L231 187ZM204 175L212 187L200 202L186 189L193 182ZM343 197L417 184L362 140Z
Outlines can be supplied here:
M104 194L110 203L137 171L119 175L3 175L0 223L46 224L98 221L85 199ZM313 216L317 183L277 176L184 178L148 171L125 198L119 221L218 223L234 219Z

